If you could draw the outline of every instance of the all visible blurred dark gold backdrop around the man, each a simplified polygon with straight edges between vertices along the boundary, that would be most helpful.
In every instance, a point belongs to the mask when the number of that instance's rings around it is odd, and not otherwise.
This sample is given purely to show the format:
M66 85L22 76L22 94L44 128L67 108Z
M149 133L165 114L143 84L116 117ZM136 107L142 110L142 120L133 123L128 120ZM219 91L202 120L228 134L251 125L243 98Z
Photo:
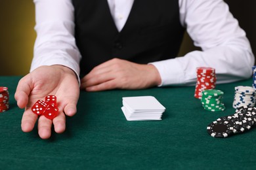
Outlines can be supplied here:
M225 0L230 11L247 32L253 52L256 51L255 0ZM30 71L35 42L35 9L32 0L1 0L0 2L0 76L26 75ZM198 49L187 34L179 56Z

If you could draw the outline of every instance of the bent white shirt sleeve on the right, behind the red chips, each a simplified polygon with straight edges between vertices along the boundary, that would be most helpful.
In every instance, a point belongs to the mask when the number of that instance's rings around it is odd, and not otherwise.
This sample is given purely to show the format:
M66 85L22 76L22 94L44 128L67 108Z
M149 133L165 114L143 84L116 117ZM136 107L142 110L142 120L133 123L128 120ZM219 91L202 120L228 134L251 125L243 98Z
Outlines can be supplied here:
M255 58L228 5L223 0L180 0L179 6L181 24L202 51L151 63L160 73L160 86L195 84L196 67L215 68L217 83L249 78Z

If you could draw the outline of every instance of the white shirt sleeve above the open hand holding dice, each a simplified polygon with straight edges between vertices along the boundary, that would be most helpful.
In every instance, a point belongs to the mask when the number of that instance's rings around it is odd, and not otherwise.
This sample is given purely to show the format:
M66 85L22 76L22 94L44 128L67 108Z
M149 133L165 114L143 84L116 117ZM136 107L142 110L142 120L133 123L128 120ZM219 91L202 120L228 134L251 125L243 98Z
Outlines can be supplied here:
M30 71L41 65L64 65L79 77L81 54L74 38L71 0L33 0L37 38Z

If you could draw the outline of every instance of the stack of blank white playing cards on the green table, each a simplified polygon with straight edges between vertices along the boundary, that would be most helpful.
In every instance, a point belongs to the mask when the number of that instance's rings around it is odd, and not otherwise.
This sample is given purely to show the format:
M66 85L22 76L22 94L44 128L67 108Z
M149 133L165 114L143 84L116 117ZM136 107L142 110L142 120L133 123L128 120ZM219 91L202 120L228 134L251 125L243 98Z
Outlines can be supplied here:
M161 120L165 107L153 96L123 97L121 110L129 121Z

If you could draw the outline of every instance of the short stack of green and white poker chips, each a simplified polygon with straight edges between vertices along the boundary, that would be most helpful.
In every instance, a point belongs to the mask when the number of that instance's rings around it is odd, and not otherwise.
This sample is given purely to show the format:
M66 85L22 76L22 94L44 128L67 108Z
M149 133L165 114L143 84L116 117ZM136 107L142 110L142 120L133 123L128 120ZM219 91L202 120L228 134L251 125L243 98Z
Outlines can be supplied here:
M224 111L223 94L221 90L203 90L201 98L203 108L212 112Z

